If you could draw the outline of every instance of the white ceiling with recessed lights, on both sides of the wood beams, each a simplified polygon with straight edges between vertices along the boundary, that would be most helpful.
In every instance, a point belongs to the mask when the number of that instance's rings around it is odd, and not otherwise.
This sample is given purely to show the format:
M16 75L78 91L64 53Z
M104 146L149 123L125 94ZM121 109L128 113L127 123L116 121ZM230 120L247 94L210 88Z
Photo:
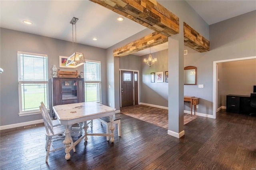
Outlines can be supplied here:
M188 4L206 21L214 24L234 16L256 10L256 1L232 0L187 0ZM72 42L73 17L76 24L77 42L94 47L108 48L146 29L119 14L94 2L84 1L12 1L0 0L0 27ZM22 21L33 24L26 25ZM92 40L97 38L97 41ZM75 39L74 39L75 41ZM151 53L167 49L168 43L151 47ZM133 53L145 55L149 49Z

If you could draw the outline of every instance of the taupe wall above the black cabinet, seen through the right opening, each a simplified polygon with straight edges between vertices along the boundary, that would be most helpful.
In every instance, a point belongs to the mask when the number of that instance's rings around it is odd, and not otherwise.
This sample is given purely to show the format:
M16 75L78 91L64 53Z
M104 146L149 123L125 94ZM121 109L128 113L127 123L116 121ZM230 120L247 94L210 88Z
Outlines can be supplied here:
M224 62L221 69L219 83L222 87L218 89L221 106L226 106L226 95L250 95L253 92L253 85L256 85L256 59Z

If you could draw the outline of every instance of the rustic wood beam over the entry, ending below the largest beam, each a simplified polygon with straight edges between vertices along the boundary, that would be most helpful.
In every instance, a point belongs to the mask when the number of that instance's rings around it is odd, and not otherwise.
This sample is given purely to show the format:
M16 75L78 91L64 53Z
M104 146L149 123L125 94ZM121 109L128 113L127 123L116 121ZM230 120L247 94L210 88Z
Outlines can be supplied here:
M135 40L134 42L130 42L118 49L114 49L113 55L114 57L122 57L165 42L168 42L168 37L157 32L153 32L152 34Z

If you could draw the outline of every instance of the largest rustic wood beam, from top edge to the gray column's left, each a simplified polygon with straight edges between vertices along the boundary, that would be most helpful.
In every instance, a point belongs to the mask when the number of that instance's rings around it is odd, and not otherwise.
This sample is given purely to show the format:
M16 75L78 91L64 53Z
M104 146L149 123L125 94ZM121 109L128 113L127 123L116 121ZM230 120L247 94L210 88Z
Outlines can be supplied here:
M179 18L156 0L90 0L164 36L179 33Z

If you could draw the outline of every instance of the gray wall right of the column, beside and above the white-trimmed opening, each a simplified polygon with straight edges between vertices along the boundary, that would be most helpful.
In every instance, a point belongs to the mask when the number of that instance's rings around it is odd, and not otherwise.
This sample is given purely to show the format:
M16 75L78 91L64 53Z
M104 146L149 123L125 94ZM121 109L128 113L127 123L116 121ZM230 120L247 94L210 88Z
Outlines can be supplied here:
M200 97L197 112L213 114L213 61L256 56L255 21L256 11L252 11L210 25L210 51L189 57L189 65L197 67L197 84L204 85L190 89L193 96ZM185 95L187 90L184 88Z

